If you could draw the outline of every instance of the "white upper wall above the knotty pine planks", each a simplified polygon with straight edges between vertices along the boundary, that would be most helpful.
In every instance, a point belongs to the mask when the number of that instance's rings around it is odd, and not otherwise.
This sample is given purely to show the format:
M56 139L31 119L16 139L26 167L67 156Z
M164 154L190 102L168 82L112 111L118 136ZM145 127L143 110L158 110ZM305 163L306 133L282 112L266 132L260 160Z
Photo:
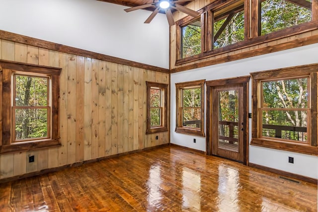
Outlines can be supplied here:
M168 68L164 14L98 0L0 0L0 29L92 52Z

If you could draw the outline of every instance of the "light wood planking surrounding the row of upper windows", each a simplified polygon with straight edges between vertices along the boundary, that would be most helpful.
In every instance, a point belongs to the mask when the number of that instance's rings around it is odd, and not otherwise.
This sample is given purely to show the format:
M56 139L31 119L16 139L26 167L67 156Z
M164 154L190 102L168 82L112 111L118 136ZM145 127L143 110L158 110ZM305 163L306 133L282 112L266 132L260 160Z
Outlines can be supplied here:
M200 10L206 5L216 0L193 0L185 6L193 9ZM317 5L317 3L316 3ZM188 16L187 14L176 10L173 12L174 21L180 20ZM316 15L317 17L317 15ZM317 18L315 18L317 20ZM307 31L288 37L263 42L248 47L244 47L235 51L225 52L218 55L212 55L204 59L190 61L180 65L175 65L176 62L176 25L170 27L170 71L171 73L185 71L193 68L200 68L210 66L218 63L225 63L233 60L238 60L246 57L266 54L270 52L280 51L284 49L294 48L298 46L308 45L317 42L318 29Z

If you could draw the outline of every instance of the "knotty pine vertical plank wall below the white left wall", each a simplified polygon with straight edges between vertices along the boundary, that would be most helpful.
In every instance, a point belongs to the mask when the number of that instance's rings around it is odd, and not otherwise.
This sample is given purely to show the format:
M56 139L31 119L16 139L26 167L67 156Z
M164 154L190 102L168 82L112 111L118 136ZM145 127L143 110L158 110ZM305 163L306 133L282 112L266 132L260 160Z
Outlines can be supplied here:
M62 68L62 146L0 155L0 179L169 142L168 132L146 135L146 81L169 84L167 73L4 39L0 59Z

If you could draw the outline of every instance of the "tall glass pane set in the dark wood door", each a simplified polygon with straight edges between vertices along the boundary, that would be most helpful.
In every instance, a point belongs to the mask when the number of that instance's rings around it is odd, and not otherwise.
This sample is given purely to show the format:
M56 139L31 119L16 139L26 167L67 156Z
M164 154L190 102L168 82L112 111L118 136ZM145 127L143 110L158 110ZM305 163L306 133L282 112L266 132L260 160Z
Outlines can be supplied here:
M239 152L239 91L219 91L219 148Z

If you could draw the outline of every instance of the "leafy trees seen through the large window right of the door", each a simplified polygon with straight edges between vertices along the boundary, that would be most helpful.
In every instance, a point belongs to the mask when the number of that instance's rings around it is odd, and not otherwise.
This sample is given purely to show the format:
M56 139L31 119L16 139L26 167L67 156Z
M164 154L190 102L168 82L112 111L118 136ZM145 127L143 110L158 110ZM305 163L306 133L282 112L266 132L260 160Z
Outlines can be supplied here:
M307 112L303 110L308 108L307 87L307 78L263 82L262 123L278 126L307 127ZM284 133L286 134L287 132L284 131ZM265 130L265 135L271 136L270 134L270 130ZM303 136L301 133L301 137L299 133L290 135L289 139L307 140L307 133L304 134Z

